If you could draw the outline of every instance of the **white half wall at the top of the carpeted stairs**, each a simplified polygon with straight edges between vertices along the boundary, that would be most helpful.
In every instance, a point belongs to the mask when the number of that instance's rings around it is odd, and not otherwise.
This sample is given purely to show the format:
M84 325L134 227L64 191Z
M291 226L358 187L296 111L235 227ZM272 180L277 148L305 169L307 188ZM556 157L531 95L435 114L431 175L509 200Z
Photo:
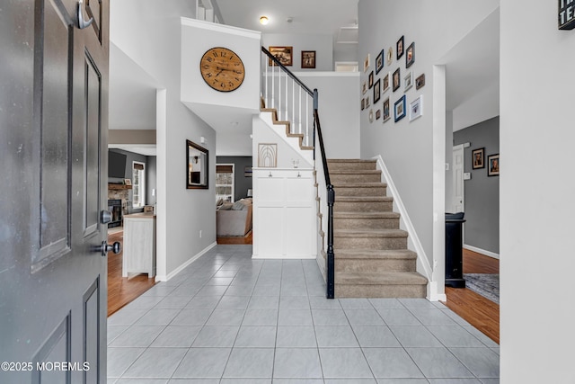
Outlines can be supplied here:
M296 72L308 88L317 88L323 142L328 158L359 158L359 74Z

